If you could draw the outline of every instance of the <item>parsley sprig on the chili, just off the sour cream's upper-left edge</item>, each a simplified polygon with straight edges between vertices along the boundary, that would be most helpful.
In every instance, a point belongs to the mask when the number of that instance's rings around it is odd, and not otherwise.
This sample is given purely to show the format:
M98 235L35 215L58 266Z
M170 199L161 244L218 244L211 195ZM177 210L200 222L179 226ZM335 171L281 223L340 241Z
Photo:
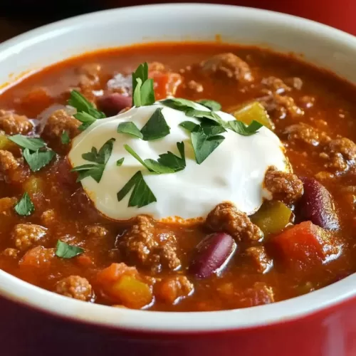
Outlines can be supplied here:
M88 101L77 90L72 90L70 92L68 105L77 109L77 113L73 116L80 122L83 122L82 125L79 126L79 130L85 130L93 122L95 122L95 120L103 119L105 117L104 112L96 110L94 105L90 103L90 101Z

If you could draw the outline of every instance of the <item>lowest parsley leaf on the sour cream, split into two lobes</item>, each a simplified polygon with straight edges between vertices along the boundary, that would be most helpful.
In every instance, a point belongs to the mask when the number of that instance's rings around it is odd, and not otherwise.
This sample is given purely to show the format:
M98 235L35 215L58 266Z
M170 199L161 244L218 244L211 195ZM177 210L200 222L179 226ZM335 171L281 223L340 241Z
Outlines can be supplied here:
M148 205L157 201L155 195L152 193L152 190L143 179L142 172L136 172L131 179L125 184L124 187L117 193L117 200L122 201L126 195L132 189L132 193L129 199L128 206L137 206L141 208L142 206Z

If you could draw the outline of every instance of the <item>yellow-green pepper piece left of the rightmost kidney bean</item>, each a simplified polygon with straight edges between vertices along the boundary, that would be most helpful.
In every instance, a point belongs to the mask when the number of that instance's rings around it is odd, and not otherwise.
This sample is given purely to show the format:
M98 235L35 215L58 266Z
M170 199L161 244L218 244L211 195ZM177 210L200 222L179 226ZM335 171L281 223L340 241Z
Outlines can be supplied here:
M292 211L281 201L266 201L261 208L251 216L265 236L282 231L289 223Z

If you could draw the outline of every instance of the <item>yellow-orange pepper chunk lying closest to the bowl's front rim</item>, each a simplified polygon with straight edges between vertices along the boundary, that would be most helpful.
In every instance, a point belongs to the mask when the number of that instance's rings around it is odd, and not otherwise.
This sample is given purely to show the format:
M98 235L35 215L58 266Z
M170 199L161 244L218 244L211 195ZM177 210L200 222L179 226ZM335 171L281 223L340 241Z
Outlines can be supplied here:
M152 302L150 286L133 276L122 276L112 286L110 294L128 308L140 309Z

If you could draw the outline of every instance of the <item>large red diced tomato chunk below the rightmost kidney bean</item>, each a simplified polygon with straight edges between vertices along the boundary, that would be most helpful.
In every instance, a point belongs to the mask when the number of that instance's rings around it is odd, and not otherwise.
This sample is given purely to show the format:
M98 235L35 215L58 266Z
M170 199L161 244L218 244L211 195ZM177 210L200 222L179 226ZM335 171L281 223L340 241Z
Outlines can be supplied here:
M271 239L283 263L298 270L330 261L340 253L340 245L330 233L304 221Z

